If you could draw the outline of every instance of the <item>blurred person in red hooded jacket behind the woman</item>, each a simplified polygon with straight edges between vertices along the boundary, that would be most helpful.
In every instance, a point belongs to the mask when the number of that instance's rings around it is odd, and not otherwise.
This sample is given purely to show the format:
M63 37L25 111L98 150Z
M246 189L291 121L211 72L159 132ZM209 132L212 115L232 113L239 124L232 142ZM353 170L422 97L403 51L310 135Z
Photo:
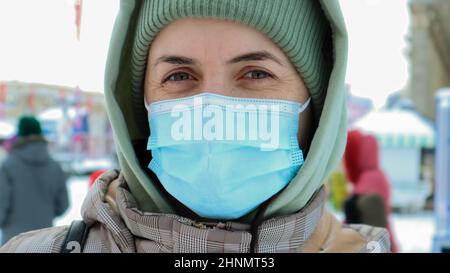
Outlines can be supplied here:
M391 186L380 168L376 138L358 130L351 130L344 153L344 166L347 178L353 186L351 196L344 206L346 223L387 228L391 238L391 250L398 252L389 221L392 210Z

